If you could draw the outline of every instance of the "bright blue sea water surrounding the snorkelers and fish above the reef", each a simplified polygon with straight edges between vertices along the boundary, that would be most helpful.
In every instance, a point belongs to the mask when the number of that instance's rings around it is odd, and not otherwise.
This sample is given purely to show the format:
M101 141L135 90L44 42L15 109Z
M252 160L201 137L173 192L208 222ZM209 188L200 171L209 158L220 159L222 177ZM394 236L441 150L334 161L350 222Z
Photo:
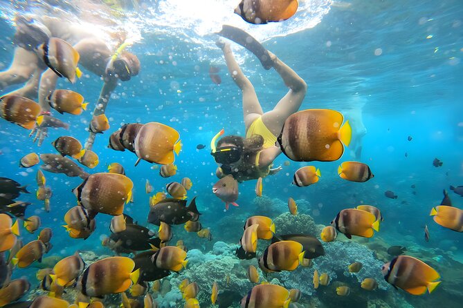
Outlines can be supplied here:
M276 218L286 212L289 197L305 200L304 206L299 207L300 213L311 215L316 224L323 225L329 224L342 209L371 204L381 209L385 220L379 233L360 243L370 247L367 244L381 242L380 248L369 248L378 255L384 247L407 247L410 256L426 258L438 271L445 269L440 271L442 284L424 296L411 296L389 287L377 291L375 297L375 293L362 293L356 280L343 280L352 290L356 289L350 298L340 302L336 291L323 290L303 295L302 305L372 307L372 302L380 299L384 303L381 307L436 307L438 303L460 307L462 236L433 222L429 212L440 204L443 189L449 191L454 206L463 206L462 197L449 190L450 185L463 184L461 1L305 0L300 1L302 10L293 19L257 26L233 15L237 1L140 1L138 6L126 3L120 10L98 2L2 1L0 69L8 68L14 54L15 14L56 16L80 22L82 27L93 26L96 32L124 29L134 39L129 50L140 59L140 74L121 82L111 95L106 111L111 128L98 135L93 146L100 164L95 169L86 169L89 173L106 172L112 162L125 167L134 182L134 203L127 204L125 213L157 231L156 226L146 223L149 211L146 180L156 192L165 191L169 182L190 177L193 186L188 191L188 200L198 196L200 221L210 228L212 241L199 239L186 233L182 226L176 226L172 244L182 239L189 249L207 253L218 241L237 244L249 216ZM96 11L85 10L86 3L106 6L107 10L98 15ZM341 111L347 119L351 115L358 126L363 122L366 134L361 139L363 151L359 161L370 166L375 175L372 180L355 183L338 177L339 164L352 160L349 149L336 162L290 162L287 166L284 164L287 157L280 155L274 164L282 165L283 170L264 179L264 201L256 200L255 181L248 181L239 184L239 207L230 206L229 211L224 211L224 202L212 193L212 185L217 182L217 164L210 155L210 139L221 128L225 128L226 134L244 135L241 93L228 74L221 50L215 46L215 32L224 23L251 33L307 82L307 95L300 110L329 108ZM264 70L244 48L235 44L233 51L255 86L262 108L271 110L287 93L280 77L274 70ZM220 68L221 84L210 80L210 66ZM64 213L77 204L71 189L82 179L45 173L47 185L53 189L51 212L46 213L42 202L35 199L35 174L39 166L30 169L18 166L21 157L30 152L55 153L51 142L62 135L72 135L82 144L87 139L91 110L100 94L102 80L84 68L82 71L84 76L75 84L60 79L57 86L75 90L89 102L89 109L82 115L57 115L71 124L69 131L52 129L44 144L37 146L28 137L28 131L2 119L0 176L28 185L30 195L22 194L19 199L33 202L26 217L39 215L42 227L53 228L50 255L70 256L79 250L109 256L114 253L101 247L100 242L110 233L111 216L98 215L96 231L87 240L71 239L61 227ZM3 88L0 95L19 86ZM133 153L107 148L110 133L122 124L134 122L161 122L179 131L183 148L176 157L178 171L174 177L161 177L158 169L152 169L153 165L144 161L134 166ZM197 144L205 144L206 148L198 150ZM442 167L433 166L436 157L443 162ZM319 182L305 188L292 186L294 172L307 165L320 169ZM386 198L385 191L394 191L398 198ZM425 224L430 232L429 242L424 240ZM338 238L343 236L339 234ZM24 231L21 237L29 242L36 235ZM242 268L244 273L246 267ZM28 275L33 280L35 270L15 269L13 277ZM377 271L381 275L381 268ZM308 270L305 284L311 284L312 272ZM225 291L224 287L221 289ZM210 285L200 286L200 290L207 297ZM318 298L318 306L314 298ZM175 302L161 296L158 303L161 307L184 305L181 300ZM201 307L208 305L210 302L201 302Z

